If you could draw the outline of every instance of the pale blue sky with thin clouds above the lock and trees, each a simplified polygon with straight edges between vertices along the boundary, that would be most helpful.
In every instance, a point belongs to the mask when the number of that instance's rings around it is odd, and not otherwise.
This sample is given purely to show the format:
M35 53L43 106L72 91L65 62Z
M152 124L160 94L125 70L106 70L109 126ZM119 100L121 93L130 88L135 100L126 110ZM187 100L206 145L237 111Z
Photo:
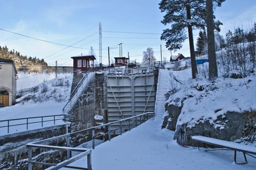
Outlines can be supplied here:
M167 60L170 55L182 53L190 56L189 42L176 52L168 51L160 34L168 26L160 21L164 13L159 10L160 0L0 0L0 29L28 35L46 41L78 48L66 48L56 44L23 37L0 30L0 46L20 51L22 55L44 58L48 64L72 64L70 57L88 54L93 47L99 61L99 22L102 26L102 63L119 56L118 44L122 43L122 56L141 62L142 53L153 48L155 57ZM221 35L235 27L249 29L256 21L256 0L226 0L215 11L223 25ZM126 32L126 33L118 33ZM127 33L129 32L129 33ZM150 34L131 34L150 33ZM193 31L194 43L198 30ZM80 42L79 42L80 41ZM78 42L78 43L77 43ZM76 44L75 44L76 43Z

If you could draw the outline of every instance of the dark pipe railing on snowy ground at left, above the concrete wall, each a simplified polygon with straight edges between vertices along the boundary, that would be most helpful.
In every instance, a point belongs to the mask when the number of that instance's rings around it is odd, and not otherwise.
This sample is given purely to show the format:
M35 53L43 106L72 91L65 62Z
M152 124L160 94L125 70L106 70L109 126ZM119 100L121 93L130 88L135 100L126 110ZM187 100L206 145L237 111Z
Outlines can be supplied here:
M53 119L47 119L45 120L45 118L50 118L50 117L53 117ZM40 119L40 120L36 120L36 121L29 121L31 119ZM17 121L17 120L25 120L24 123L18 123L18 124L13 124L12 122L13 121ZM12 126L20 126L20 125L26 125L26 130L29 129L28 125L29 124L34 124L34 123L40 123L41 124L41 127L43 127L43 123L44 122L49 122L49 121L53 121L53 125L56 124L56 121L57 120L63 120L65 121L65 115L49 115L49 116L39 116L39 117L29 117L29 118L20 118L20 119L7 119L7 120L0 120L0 123L2 124L2 122L4 123L7 123L7 125L5 126L0 126L0 128L5 128L7 127L7 133L9 134L10 132L10 127Z

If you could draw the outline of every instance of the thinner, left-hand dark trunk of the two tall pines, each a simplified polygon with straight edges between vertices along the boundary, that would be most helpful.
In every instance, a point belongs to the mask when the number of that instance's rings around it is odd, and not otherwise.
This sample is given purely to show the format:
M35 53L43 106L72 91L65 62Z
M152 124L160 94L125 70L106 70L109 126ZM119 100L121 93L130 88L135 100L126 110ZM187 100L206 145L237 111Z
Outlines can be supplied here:
M191 19L190 6L186 6L187 11L187 19ZM192 26L188 25L188 37L189 37L189 48L190 48L190 59L191 59L191 68L192 68L192 78L197 78L197 63L196 63L196 55L194 49L194 40L193 40L193 31Z

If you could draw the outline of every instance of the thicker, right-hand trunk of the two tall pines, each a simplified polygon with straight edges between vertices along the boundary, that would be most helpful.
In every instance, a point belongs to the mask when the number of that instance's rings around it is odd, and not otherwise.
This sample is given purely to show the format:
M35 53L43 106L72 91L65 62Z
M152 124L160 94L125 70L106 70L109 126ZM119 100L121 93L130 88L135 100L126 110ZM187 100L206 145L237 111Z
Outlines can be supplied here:
M215 80L218 77L218 70L214 39L213 0L206 0L206 27L209 59L209 80Z

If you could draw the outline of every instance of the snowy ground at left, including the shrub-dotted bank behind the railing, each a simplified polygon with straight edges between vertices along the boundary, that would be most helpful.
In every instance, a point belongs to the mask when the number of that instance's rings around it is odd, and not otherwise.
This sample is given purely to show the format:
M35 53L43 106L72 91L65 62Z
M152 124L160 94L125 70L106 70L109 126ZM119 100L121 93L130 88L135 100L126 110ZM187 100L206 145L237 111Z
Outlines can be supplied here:
M69 99L72 76L58 77L40 83L39 89L20 93L19 102L13 106L0 108L0 120L20 119L30 117L41 117L50 115L61 115L62 109ZM43 120L53 120L54 117L43 118ZM59 119L56 117L56 119ZM41 128L41 118L28 119L28 122L36 122L28 125L28 130ZM26 123L26 119L11 120L9 125ZM56 125L63 124L62 120L57 120ZM8 121L0 121L0 126L7 126ZM54 121L43 122L43 127L53 126ZM25 125L11 126L9 134L22 132L27 129ZM0 135L8 134L7 127L0 128Z

